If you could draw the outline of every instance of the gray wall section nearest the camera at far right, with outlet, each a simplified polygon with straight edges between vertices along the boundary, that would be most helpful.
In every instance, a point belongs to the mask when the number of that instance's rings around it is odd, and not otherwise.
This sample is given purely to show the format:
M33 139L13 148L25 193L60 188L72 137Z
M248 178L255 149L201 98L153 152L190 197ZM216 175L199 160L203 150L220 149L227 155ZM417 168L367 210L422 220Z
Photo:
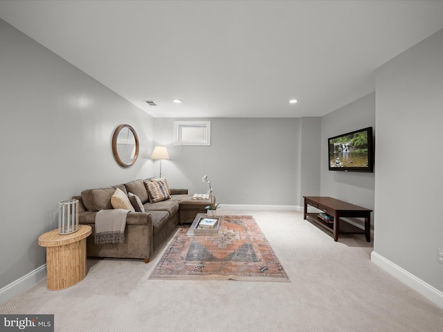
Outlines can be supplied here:
M443 291L443 30L376 76L374 251Z

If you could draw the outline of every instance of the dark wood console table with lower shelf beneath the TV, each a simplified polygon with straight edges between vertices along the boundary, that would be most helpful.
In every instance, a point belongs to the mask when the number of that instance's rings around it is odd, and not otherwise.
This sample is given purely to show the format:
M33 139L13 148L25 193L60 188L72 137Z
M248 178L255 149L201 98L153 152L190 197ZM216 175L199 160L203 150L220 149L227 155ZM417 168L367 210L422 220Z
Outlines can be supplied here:
M361 208L360 206L346 203L344 201L339 201L338 199L333 199L332 197L326 196L303 196L305 198L305 209L303 210L303 219L309 219L315 221L319 225L322 225L327 230L334 233L334 241L338 241L338 230L340 228L340 218L350 217L350 218L364 218L365 219L365 230L364 234L366 241L370 242L370 225L371 225L371 212L370 209ZM334 216L334 223L327 223L318 218L316 213L307 213L307 205L311 205L318 210ZM350 224L347 224L350 225ZM354 225L350 225L355 230L360 230ZM348 233L361 233L361 232L348 232ZM363 233L361 233L363 234Z

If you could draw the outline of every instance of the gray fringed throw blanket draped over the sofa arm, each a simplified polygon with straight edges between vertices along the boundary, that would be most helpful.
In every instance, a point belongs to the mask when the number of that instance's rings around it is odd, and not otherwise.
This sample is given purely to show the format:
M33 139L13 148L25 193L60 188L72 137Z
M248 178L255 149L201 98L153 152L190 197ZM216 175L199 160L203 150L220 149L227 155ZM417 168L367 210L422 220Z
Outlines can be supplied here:
M100 210L96 214L96 244L125 242L126 216L129 210Z

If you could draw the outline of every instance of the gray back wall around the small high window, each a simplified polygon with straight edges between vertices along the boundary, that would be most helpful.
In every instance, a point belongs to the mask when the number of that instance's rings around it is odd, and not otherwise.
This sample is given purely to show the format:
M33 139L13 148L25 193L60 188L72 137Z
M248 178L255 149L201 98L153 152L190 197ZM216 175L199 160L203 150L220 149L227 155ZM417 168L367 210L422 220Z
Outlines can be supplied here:
M201 177L207 174L221 204L299 204L300 119L196 120L211 121L210 146L173 145L174 119L155 119L156 144L167 145L170 153L162 173L171 187L204 193ZM158 167L154 163L156 172Z

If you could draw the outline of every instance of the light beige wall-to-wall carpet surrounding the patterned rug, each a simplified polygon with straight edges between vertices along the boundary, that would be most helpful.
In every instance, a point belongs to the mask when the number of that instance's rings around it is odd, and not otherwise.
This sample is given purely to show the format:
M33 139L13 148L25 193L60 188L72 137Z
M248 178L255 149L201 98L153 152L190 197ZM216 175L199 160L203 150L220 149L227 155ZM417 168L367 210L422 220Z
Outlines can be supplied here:
M89 260L79 284L44 279L0 313L55 314L66 332L443 331L443 310L373 264L363 235L334 242L300 212L232 213L254 216L290 283L148 279L165 244L149 264Z

